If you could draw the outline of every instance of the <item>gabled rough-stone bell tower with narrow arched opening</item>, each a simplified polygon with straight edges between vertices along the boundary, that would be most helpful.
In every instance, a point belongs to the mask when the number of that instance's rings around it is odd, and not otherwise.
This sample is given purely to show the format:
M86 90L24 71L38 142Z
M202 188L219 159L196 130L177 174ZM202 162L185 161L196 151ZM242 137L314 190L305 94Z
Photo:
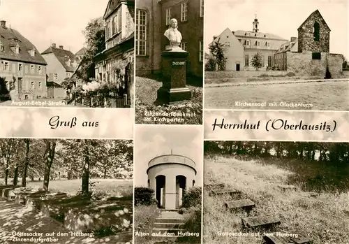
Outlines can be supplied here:
M320 40L314 41L314 23L320 24ZM329 52L329 29L320 13L313 13L298 29L298 52Z

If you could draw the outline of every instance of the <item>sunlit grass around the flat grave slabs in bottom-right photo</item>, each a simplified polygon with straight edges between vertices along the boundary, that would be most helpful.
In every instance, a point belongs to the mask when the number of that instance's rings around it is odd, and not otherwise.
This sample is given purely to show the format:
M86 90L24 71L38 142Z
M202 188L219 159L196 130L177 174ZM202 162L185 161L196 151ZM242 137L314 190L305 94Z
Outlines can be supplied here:
M281 192L277 186L290 184L289 180L292 178L298 179L292 182L292 185L302 189L306 174L309 174L304 172L304 175L301 175L300 166L297 168L295 163L283 161L283 166L280 164L276 166L260 160L242 161L230 157L207 156L204 171L205 185L224 183L225 187L241 191L242 199L251 199L255 203L251 216L279 218L281 220L279 232L298 230L299 233L309 235L314 243L347 243L348 189L344 193L322 191L316 198L305 196L302 190ZM306 167L312 166L306 165ZM309 171L315 173L314 169L310 168ZM319 177L320 182L321 173ZM315 179L316 177L309 180ZM348 182L343 184L348 187ZM246 217L246 213L229 213L223 208L225 201L231 201L230 196L209 196L207 188L204 188L205 243L263 243L261 236L251 236L251 234L248 237L218 236L219 231L246 233L242 229L241 220L242 217Z

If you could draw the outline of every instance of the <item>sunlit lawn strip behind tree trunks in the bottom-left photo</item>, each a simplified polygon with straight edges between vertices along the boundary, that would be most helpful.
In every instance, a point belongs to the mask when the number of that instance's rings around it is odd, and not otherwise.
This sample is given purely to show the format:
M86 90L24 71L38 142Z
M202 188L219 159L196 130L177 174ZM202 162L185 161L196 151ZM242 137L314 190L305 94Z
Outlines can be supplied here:
M96 182L91 187L93 192L106 196L133 196L133 180L116 179L90 179L90 182ZM43 187L43 181L28 182L28 187ZM81 179L76 180L50 180L50 192L66 192L66 194L75 195L81 187Z

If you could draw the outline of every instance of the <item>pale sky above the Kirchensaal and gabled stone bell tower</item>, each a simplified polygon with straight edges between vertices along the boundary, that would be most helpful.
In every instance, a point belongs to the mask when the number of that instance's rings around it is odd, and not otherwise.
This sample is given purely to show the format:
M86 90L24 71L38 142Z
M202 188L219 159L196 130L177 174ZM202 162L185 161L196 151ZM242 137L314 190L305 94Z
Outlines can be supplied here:
M205 49L213 36L227 27L231 31L252 31L255 14L260 32L290 39L298 36L298 27L317 9L331 29L329 51L349 59L348 0L205 0Z

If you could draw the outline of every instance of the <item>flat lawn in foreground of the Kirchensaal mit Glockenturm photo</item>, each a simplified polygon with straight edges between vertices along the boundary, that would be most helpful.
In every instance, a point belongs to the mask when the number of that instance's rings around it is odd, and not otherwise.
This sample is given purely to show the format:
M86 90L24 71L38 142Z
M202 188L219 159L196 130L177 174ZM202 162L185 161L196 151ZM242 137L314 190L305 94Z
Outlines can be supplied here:
M205 108L349 110L348 92L348 81L205 87ZM248 103L267 102L267 106L237 106L235 104L236 101L246 101ZM277 106L268 106L268 103L273 102L276 102ZM312 106L280 106L281 102L304 103Z

